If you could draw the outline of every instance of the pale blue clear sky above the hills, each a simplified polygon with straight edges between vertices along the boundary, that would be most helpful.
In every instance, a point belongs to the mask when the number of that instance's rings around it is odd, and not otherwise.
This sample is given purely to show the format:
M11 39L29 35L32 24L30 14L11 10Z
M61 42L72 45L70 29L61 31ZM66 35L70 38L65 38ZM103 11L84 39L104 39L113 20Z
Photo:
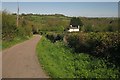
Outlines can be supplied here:
M64 14L82 17L118 17L118 2L19 2L20 13ZM17 12L16 2L3 2L2 10Z

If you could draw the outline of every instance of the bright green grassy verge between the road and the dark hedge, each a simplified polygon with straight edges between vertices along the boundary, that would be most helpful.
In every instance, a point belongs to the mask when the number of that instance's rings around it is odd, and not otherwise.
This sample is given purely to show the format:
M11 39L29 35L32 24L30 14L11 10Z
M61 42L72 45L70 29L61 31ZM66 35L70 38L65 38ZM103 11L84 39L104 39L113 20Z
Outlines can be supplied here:
M39 62L52 78L118 78L120 75L114 64L89 54L73 53L60 41L52 43L42 37L36 50Z

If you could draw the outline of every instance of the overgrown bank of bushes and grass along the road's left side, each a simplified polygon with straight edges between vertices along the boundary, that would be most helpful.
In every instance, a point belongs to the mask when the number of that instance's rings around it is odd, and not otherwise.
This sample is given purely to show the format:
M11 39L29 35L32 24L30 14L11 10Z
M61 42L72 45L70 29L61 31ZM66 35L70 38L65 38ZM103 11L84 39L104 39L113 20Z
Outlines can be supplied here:
M16 25L16 15L2 11L2 49L9 48L32 36L32 23L19 17L19 25Z

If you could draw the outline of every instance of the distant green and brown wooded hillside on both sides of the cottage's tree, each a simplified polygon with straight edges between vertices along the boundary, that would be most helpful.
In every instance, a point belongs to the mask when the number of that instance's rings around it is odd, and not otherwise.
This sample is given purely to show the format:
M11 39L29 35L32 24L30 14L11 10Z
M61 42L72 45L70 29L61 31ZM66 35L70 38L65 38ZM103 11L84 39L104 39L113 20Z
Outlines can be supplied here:
M38 15L38 14L22 14L25 20L35 23L34 28L39 31L64 31L69 28L70 20L72 17L55 14L55 15ZM79 17L84 26L82 31L89 32L105 32L117 31L118 19L117 18L88 18Z

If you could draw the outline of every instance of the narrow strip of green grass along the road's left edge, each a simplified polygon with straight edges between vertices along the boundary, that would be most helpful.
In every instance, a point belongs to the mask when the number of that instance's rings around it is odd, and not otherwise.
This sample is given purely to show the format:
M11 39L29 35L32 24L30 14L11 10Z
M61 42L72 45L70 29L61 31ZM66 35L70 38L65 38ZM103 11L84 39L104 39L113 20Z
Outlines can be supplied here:
M17 44L17 43L20 43L20 42L23 42L25 40L28 40L29 38L31 37L15 37L13 40L11 41L2 41L2 49L6 49L6 48L10 48L11 46Z

